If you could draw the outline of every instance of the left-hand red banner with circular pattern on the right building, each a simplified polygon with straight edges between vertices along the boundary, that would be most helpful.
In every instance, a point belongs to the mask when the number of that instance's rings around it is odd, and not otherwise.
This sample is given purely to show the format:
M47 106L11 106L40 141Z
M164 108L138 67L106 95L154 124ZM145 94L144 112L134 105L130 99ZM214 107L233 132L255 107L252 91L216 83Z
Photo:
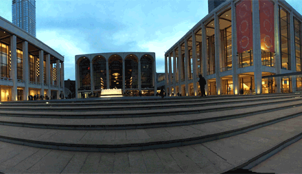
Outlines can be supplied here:
M237 52L253 50L253 22L251 0L241 0L236 5Z

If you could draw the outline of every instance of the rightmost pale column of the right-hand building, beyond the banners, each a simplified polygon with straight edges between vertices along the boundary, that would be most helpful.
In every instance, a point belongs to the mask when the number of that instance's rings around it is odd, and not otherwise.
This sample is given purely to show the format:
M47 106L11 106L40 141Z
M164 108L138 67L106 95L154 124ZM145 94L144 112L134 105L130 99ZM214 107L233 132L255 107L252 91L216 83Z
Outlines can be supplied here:
M296 49L294 41L294 14L290 12L290 68L292 72L297 71L296 67ZM292 92L296 92L296 76L292 76Z

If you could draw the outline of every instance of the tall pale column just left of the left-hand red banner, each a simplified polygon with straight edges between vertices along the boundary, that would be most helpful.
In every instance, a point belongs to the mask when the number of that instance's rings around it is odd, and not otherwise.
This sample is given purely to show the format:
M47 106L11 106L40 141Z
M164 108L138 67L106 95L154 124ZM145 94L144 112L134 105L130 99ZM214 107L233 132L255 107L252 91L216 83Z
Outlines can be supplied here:
M238 68L238 57L237 57L237 25L236 25L236 9L235 3L231 2L232 6L232 71L233 71L233 93L239 94L240 86L238 82L237 68Z

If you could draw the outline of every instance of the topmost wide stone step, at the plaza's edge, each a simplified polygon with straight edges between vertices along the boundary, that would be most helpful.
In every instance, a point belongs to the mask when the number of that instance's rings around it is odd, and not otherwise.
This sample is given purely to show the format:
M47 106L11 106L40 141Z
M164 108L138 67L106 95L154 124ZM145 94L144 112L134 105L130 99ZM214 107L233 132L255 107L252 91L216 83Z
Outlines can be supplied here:
M262 95L242 95L242 96L207 96L207 98L200 97L170 97L157 100L37 100L37 101L19 101L19 102L1 102L0 108L5 107L86 107L86 106L131 106L131 105L165 105L165 104L183 104L188 103L204 103L204 102L220 102L228 100L261 100L265 98L290 98L301 96L301 94L262 94ZM108 98L110 99L110 98Z

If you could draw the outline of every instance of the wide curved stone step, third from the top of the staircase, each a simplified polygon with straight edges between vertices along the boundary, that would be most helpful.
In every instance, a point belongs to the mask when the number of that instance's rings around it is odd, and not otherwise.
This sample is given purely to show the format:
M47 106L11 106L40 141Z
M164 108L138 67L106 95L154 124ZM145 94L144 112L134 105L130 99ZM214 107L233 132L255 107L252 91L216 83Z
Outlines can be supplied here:
M280 104L293 101L301 101L302 98L288 98L274 101L244 102L228 105L211 105L206 107L190 108L172 108L172 109L145 109L130 111L43 111L37 109L34 111L5 111L0 110L0 116L20 116L20 117L38 117L38 118L135 118L148 116L172 116L187 115L193 113L209 113L213 111L226 111L230 109L243 109L248 107L257 107L261 105Z

